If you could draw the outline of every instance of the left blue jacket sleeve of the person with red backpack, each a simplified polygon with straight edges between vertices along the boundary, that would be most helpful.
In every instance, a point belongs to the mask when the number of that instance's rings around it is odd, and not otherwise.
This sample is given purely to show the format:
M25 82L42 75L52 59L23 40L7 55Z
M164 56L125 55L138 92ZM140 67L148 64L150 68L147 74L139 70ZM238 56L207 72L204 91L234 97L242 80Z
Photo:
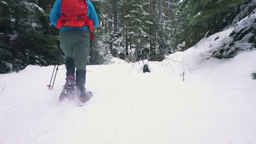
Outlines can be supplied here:
M54 3L53 9L51 9L50 13L50 21L56 27L57 20L61 15L61 0L56 0Z

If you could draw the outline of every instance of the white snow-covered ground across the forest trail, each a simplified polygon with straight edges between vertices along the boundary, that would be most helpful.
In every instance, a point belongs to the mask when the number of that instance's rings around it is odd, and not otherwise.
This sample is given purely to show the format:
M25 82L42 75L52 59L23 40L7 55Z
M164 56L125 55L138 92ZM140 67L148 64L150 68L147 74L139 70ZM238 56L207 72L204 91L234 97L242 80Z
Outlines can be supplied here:
M168 56L190 70L170 59L145 74L142 61L90 65L83 107L59 104L64 65L53 91L53 66L0 75L0 143L256 143L256 51L206 60L203 47Z

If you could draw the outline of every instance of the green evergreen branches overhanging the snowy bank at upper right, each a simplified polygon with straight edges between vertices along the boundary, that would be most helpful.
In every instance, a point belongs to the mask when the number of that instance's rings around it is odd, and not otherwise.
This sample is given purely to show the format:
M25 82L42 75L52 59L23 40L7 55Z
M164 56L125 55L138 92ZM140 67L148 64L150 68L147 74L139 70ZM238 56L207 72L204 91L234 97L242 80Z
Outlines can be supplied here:
M185 50L205 37L206 33L214 34L229 25L237 15L238 5L248 0L176 0L174 2L176 19L184 24L182 31L175 33L174 37L179 38L178 41L185 42L186 45L183 47ZM177 39L174 41L176 43Z

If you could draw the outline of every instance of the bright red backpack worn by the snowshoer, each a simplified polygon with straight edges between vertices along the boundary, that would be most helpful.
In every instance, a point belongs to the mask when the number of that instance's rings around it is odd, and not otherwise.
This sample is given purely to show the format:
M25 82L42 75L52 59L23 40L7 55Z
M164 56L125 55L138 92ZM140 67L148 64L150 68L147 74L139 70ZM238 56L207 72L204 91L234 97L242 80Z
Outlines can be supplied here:
M62 26L83 27L88 26L92 39L95 38L92 34L94 30L94 21L87 14L86 0L61 0L61 16L57 20L57 28Z

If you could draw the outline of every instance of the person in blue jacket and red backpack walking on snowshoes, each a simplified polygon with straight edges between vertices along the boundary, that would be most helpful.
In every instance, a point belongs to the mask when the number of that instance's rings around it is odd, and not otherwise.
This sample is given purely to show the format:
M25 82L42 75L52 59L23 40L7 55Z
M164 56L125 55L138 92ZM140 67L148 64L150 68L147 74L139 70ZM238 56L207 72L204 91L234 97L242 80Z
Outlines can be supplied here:
M91 97L91 93L85 91L85 78L90 52L89 34L94 39L92 31L98 26L95 8L89 0L56 0L50 21L60 29L60 47L66 56L66 84L60 100L67 94L76 94L84 103Z

